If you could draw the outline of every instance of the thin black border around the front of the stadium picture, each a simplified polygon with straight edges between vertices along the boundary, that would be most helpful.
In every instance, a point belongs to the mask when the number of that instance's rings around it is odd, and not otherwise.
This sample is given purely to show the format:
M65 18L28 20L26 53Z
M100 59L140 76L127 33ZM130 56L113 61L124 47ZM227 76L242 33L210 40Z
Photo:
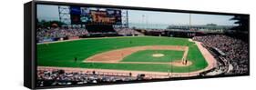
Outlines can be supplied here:
M238 14L238 13L223 13L223 12L209 12L209 11L192 11L192 10L179 10L179 9L165 9L165 8L152 8L152 7L136 7L136 6L123 6L123 5L94 5L94 4L82 4L82 3L67 3L67 2L51 2L51 1L31 1L32 2L32 89L47 89L47 88L64 88L64 87L77 87L77 86L91 86L91 85L121 85L121 84L134 84L134 83L151 83L162 81L176 81L176 80L192 80L192 79L205 79L205 78L217 78L217 77L233 77L233 76L246 76L250 75L251 58L250 58L250 15ZM130 10L147 10L147 11L159 11L159 12L174 12L174 13L190 13L190 14L205 14L205 15L244 15L249 17L249 72L244 75L217 75L217 76L193 76L193 77L181 77L181 78L167 78L167 79L155 79L147 81L131 81L131 82L117 82L117 83L102 83L102 84L88 84L88 85L56 85L56 86L44 86L36 87L36 71L37 71L37 56L36 56L36 5L78 5L84 7L103 7L103 8L118 8L118 9L130 9ZM26 63L26 62L25 62Z

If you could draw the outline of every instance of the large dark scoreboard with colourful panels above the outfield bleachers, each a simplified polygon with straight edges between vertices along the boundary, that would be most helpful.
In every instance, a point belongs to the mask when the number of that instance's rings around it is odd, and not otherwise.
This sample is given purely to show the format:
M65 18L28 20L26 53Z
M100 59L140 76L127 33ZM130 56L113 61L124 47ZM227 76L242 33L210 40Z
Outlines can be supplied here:
M120 9L70 6L71 24L102 23L121 25Z

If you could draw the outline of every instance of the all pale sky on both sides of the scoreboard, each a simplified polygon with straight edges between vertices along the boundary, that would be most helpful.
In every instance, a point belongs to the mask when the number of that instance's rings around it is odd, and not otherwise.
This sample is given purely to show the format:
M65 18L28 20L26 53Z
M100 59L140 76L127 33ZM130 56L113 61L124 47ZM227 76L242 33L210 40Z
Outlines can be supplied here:
M234 25L233 15L191 14L191 25ZM59 20L57 5L37 5L37 18L41 20ZM171 13L142 10L128 10L128 22L134 24L189 25L188 13Z

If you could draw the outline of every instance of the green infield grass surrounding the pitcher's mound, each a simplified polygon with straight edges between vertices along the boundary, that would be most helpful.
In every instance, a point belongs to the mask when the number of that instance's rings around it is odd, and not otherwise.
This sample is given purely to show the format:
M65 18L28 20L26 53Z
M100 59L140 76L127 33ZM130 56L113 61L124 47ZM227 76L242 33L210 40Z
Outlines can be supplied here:
M174 50L143 50L126 56L121 62L172 62L181 60L184 51ZM154 54L163 54L162 57L154 57Z

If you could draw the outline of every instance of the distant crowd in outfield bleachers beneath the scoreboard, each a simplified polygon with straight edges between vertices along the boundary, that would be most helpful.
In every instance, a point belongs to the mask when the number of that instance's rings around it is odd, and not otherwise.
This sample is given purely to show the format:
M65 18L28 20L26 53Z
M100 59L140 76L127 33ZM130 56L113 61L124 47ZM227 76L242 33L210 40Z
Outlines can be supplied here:
M116 34L118 35L143 35L142 33L130 29L130 28L115 28L114 32L89 32L86 28L78 27L47 27L47 28L37 28L36 38L40 42L43 42L44 39L53 39L53 38L65 38L65 37L74 37L81 35L109 35Z

